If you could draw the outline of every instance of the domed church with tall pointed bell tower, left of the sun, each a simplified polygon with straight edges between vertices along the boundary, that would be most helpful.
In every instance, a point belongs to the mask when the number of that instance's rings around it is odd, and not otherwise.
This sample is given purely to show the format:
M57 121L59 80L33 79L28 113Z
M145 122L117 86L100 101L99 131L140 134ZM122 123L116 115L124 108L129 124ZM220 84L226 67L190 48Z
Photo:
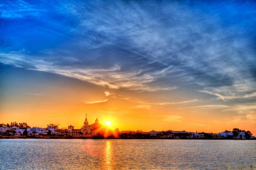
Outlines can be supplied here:
M95 123L89 125L87 120L87 114L85 117L84 125L81 129L74 129L74 126L68 126L68 133L75 137L92 137L101 135L102 125L99 123L98 118L96 118Z

